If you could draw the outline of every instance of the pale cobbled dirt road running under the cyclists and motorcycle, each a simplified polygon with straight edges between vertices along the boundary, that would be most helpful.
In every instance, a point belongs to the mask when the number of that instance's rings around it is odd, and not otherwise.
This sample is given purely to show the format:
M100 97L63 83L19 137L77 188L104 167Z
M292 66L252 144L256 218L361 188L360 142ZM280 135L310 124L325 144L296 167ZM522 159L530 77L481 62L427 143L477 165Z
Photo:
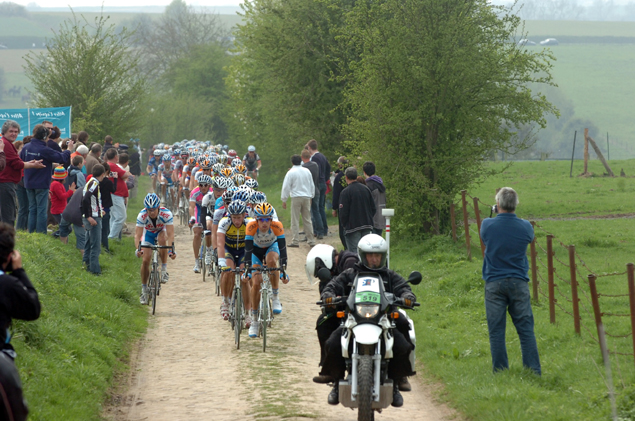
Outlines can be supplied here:
M132 355L117 404L105 415L117 421L356 419L356 412L328 405L330 388L311 381L318 372L315 320L320 310L314 304L317 286L304 274L308 245L289 249L291 282L280 286L283 312L268 331L263 353L260 339L246 333L236 350L233 332L219 316L213 282L203 283L202 275L192 271L189 230L177 226L176 233L179 255L168 264L170 282L163 286L157 313ZM411 383L405 405L384 410L377 420L454 417L433 401L429 386L416 377Z

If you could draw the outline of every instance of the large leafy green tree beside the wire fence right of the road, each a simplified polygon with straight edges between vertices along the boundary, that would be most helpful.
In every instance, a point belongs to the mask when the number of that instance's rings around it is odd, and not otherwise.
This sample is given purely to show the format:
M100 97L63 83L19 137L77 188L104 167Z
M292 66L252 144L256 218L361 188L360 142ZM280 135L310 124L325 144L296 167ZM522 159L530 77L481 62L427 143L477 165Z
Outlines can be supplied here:
M377 164L402 227L439 232L485 158L529 146L518 128L557 113L529 87L552 84L553 57L509 42L520 18L486 0L358 0L347 22L363 49L349 66L348 144Z

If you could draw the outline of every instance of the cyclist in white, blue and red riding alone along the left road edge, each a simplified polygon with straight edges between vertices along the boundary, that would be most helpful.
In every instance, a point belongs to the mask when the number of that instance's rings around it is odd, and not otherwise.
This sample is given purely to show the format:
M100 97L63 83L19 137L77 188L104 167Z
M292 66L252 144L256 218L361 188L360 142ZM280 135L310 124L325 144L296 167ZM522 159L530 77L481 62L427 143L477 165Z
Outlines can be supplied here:
M169 209L161 207L159 196L148 193L143 201L144 209L137 216L137 228L135 230L135 255L143 256L141 263L141 297L139 302L148 304L148 278L150 277L150 260L152 251L150 249L140 249L139 245L159 245L174 246L174 218ZM160 250L161 256L161 283L167 283L170 279L168 274L168 250ZM170 250L170 258L176 258L176 252Z

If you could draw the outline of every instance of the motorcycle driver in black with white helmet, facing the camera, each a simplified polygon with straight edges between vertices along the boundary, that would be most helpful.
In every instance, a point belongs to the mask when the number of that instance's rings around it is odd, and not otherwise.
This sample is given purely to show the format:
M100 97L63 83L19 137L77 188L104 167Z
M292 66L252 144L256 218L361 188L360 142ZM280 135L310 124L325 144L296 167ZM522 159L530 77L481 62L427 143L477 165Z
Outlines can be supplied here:
M361 238L358 244L360 262L351 269L347 269L339 276L332 279L322 292L322 301L325 304L333 302L335 297L348 296L351 286L359 272L375 272L384 282L386 292L393 293L395 297L405 300L407 306L416 301L416 296L410 289L410 285L397 272L386 267L386 255L388 245L386 240L377 234L368 234ZM399 393L399 383L407 376L415 374L410 366L408 355L414 350L414 344L410 340L410 324L406 317L394 319L396 329L393 330L394 345L393 358L389 360L388 377L393 380L392 406L403 405L403 397ZM322 373L335 379L335 386L329 393L328 403L339 403L339 380L344 378L346 362L342 356L340 338L343 327L338 327L326 341L326 357L322 366Z

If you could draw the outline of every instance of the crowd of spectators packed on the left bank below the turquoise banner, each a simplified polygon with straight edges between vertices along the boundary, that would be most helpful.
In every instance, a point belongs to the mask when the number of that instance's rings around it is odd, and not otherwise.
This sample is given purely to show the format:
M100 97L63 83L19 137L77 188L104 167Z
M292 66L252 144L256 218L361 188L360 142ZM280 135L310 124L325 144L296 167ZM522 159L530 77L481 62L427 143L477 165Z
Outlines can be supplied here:
M114 143L111 136L103 147L89 143L85 131L61 139L61 130L48 121L22 140L19 133L17 122L2 124L0 222L19 231L50 233L62 242L74 231L87 269L100 273L101 248L110 252L109 239L128 233L127 201L129 190L136 193L135 175L141 174L139 153L129 156L128 145Z

